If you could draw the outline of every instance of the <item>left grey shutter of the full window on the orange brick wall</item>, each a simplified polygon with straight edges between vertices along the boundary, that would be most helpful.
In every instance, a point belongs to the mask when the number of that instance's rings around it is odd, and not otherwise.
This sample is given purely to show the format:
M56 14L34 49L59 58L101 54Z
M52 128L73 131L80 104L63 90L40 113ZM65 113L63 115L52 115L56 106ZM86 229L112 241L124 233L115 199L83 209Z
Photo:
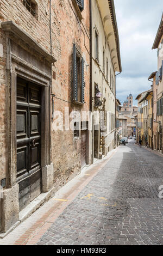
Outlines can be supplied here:
M77 50L73 44L73 100L78 101Z

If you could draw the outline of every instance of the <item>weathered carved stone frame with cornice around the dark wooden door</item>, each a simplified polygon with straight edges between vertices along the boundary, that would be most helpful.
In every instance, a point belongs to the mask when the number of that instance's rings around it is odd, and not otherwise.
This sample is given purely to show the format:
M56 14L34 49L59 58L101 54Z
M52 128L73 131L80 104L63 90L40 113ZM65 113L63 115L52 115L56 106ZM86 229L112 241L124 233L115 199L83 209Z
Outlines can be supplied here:
M2 203L2 230L8 230L18 220L18 184L16 183L16 81L17 76L42 87L41 99L41 167L42 191L53 186L51 163L51 86L52 63L56 60L29 34L14 22L1 23L7 40L7 187Z

